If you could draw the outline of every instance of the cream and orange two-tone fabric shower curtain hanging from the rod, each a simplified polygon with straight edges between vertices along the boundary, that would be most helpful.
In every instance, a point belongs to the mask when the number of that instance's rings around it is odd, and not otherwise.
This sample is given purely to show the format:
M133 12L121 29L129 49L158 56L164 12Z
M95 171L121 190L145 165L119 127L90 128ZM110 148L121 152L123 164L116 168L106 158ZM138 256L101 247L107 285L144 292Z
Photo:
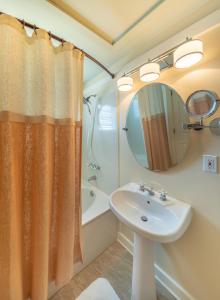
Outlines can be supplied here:
M0 299L46 300L81 260L83 55L0 16Z

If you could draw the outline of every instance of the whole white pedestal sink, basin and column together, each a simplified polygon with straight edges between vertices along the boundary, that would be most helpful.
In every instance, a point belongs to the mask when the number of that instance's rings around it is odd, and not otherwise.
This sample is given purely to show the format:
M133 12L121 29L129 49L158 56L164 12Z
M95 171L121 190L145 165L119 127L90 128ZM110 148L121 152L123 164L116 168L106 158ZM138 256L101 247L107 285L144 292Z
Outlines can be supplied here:
M179 239L192 218L187 203L160 197L156 191L152 194L140 190L136 183L129 183L110 197L113 213L134 231L132 300L156 300L154 242Z

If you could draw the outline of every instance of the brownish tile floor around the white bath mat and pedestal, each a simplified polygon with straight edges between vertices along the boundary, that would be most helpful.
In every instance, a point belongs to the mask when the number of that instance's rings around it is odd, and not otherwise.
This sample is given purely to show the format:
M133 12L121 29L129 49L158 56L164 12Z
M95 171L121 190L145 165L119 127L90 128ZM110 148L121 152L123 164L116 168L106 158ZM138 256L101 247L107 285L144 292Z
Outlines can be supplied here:
M50 300L74 300L98 277L106 278L121 300L130 300L131 272L132 255L118 242L115 242ZM175 300L158 282L157 297L158 300Z

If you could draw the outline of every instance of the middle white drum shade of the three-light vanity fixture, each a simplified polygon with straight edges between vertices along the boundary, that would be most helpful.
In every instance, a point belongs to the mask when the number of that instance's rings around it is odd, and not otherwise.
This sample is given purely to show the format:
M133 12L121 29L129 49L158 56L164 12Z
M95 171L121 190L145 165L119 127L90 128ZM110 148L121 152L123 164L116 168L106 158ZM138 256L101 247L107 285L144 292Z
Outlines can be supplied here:
M145 82L154 81L160 76L160 65L148 62L140 68L140 80Z

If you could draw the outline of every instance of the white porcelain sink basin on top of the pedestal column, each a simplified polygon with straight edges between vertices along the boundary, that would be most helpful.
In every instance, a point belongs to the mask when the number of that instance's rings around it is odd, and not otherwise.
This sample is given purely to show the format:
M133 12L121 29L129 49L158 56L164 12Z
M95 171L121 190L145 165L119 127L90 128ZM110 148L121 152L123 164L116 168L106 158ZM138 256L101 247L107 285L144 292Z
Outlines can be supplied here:
M166 201L141 192L139 185L129 183L116 190L110 207L121 222L147 239L161 243L177 240L190 224L192 212L187 203L167 197ZM146 217L147 221L143 221Z

